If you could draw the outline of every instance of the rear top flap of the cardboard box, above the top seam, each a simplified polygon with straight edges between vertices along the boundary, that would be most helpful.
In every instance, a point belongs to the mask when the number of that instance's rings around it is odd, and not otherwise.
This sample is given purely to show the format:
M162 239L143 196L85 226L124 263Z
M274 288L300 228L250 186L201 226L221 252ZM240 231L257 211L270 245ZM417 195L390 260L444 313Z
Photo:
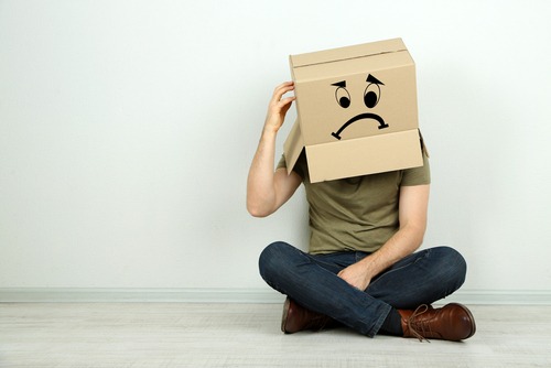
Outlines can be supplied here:
M291 55L290 62L293 68L406 50L406 45L401 39L392 39L300 55Z

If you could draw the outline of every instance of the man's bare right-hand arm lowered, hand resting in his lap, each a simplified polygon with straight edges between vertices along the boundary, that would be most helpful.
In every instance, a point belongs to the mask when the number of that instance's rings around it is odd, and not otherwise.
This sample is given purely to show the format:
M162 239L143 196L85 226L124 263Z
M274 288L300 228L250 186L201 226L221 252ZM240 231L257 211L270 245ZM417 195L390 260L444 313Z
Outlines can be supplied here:
M400 229L376 252L338 273L350 285L366 290L371 279L423 242L426 229L430 185L402 186L400 188Z

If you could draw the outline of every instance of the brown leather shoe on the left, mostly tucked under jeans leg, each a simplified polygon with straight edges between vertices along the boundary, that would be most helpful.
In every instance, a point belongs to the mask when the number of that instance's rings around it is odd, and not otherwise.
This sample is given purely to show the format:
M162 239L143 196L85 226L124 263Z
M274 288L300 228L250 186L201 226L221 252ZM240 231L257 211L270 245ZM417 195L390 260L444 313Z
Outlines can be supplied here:
M294 334L303 329L321 331L334 325L336 322L331 317L306 310L290 297L285 299L281 318L281 331L285 334Z

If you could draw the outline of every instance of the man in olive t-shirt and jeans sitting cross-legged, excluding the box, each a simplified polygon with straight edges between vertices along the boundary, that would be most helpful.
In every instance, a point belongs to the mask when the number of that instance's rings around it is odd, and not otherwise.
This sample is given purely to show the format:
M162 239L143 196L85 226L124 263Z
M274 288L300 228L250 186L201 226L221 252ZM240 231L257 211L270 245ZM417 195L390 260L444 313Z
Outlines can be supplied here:
M452 248L414 252L423 240L430 167L310 183L302 155L291 174L284 158L273 170L276 137L295 97L292 82L274 89L247 182L247 209L264 217L304 184L310 206L309 253L273 242L261 253L260 274L288 295L284 333L346 325L374 337L462 340L474 335L467 307L431 303L457 290L466 263ZM303 153L304 154L304 153Z

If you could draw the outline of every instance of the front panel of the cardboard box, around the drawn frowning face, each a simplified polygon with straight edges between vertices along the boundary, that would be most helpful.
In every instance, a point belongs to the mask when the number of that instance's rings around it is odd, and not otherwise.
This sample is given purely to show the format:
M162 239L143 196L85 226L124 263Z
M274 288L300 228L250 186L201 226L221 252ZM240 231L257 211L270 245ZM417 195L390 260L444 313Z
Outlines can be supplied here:
M359 61L355 59L354 62L358 63ZM343 67L348 69L346 65ZM374 74L376 74L377 79L385 83L385 86L381 86L379 102L372 109L367 108L363 100L367 85L366 77L370 73L356 73L348 77L341 76L341 78L332 77L331 80L323 78L307 83L295 82L296 106L304 144L334 142L336 138L332 133L361 113L379 116L388 127L379 129L380 123L377 120L363 119L347 127L346 131L341 134L341 140L418 128L413 65L379 69ZM341 108L336 102L335 90L337 88L328 88L332 87L332 83L343 79L346 79L346 89L352 100L350 106L346 109ZM378 91L378 89L374 89Z

